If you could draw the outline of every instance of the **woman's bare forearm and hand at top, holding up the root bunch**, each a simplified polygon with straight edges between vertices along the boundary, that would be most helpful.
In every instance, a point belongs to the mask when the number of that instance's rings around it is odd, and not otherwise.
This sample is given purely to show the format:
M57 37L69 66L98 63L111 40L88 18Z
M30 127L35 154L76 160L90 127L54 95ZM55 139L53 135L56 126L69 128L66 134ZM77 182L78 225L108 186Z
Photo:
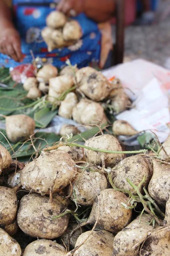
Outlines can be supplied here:
M96 22L109 20L115 10L114 0L61 0L57 9L69 15L71 9L77 14L84 12Z

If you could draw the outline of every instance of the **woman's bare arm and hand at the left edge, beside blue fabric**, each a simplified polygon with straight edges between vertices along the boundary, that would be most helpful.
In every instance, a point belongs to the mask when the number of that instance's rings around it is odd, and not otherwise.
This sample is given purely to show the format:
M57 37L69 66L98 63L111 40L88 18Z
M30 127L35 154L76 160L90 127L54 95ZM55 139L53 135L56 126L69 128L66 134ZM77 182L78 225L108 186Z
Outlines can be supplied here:
M0 52L9 55L14 61L21 61L20 35L12 22L12 14L5 0L0 0Z

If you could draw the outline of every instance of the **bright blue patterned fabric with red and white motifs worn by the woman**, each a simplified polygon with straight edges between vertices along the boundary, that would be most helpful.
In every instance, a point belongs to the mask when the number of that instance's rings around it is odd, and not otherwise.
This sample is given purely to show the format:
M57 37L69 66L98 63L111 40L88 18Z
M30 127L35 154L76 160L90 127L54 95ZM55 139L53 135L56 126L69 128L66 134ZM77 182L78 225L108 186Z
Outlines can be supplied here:
M54 2L57 0L13 0L14 23L21 35L22 51L25 55L21 64L32 61L30 50L33 51L35 58L44 58L59 68L65 65L67 58L71 64L77 64L78 67L88 66L92 61L99 63L101 33L97 24L84 14L75 17L82 27L82 38L73 46L48 52L47 45L41 37L41 30L46 26L45 18L54 10L54 7L51 7L51 3ZM0 65L16 67L19 64L0 54Z

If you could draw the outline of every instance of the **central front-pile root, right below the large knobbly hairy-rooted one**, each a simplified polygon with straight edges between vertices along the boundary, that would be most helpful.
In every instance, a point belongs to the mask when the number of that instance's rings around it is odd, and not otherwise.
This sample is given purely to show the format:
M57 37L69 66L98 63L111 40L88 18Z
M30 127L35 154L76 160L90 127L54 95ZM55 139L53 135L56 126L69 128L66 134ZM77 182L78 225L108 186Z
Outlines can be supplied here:
M108 188L108 182L104 174L92 169L78 168L77 176L72 183L74 191L72 199L80 205L93 205L96 195L104 189ZM71 192L69 187L68 194Z

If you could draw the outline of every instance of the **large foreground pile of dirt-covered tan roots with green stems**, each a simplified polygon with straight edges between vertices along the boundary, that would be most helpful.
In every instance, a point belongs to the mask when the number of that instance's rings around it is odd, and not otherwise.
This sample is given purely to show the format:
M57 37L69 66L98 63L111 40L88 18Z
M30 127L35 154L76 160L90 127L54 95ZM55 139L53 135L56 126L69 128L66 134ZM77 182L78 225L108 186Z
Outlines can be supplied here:
M170 163L125 153L111 134L64 138L24 165L0 145L0 256L169 256Z

